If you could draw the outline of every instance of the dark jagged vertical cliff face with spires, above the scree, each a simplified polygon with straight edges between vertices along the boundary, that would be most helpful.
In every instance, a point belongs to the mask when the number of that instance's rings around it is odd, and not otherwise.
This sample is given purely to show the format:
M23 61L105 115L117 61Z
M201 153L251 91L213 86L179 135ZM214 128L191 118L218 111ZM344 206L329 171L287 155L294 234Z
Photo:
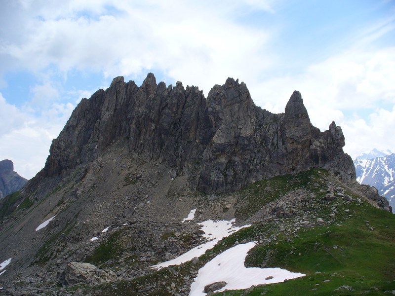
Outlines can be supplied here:
M341 128L334 122L325 132L314 127L298 91L285 113L273 114L256 107L246 85L233 78L205 99L195 86L166 87L148 74L140 87L117 77L107 90L82 99L36 179L61 178L123 139L130 153L163 162L207 193L311 167L347 182L356 178Z

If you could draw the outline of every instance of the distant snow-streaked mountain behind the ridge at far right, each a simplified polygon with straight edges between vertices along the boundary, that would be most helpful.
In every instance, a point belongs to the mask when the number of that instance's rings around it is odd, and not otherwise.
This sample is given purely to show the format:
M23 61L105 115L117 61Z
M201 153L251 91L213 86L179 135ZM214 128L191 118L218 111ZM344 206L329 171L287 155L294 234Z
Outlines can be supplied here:
M395 206L395 153L373 159L356 159L356 181L375 186Z

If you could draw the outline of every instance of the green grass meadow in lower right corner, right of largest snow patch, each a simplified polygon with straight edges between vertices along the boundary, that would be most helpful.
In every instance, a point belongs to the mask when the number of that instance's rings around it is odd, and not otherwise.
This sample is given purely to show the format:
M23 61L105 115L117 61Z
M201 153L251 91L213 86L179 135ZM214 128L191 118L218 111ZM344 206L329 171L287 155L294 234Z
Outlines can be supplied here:
M389 295L395 290L395 215L367 203L346 206L353 217L341 225L306 229L290 242L252 249L246 266L282 267L307 275L243 295ZM353 291L336 290L344 285Z

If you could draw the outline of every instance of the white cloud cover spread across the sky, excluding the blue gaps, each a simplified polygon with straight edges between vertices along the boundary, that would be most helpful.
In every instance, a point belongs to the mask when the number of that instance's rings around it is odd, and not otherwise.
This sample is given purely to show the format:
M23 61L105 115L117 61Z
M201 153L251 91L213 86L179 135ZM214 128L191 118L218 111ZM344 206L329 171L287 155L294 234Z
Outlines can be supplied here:
M31 177L33 171L42 168L50 141L63 127L74 104L96 90L62 89L48 70L51 66L65 76L69 70L81 70L101 72L105 78L124 75L126 79L141 79L157 70L168 83L181 80L184 85L199 86L205 94L231 76L246 82L255 103L272 112L283 112L293 90L299 90L314 125L325 130L335 120L342 126L345 150L350 154L357 154L367 145L395 150L390 137L381 135L381 131L395 129L391 120L391 108L395 106L395 47L377 50L370 46L394 30L394 18L362 28L346 50L337 49L323 61L278 74L276 69L282 69L284 62L272 41L280 30L253 28L237 19L254 9L275 14L281 2L2 3L0 27L9 30L0 35L0 76L24 69L40 73L42 81L32 87L32 101L24 109L7 104L0 96L1 118L12 114L7 122L0 118L0 140L7 143L0 148L0 156L16 159L18 153L26 155L23 163L26 176ZM64 96L71 103L62 101ZM42 111L36 117L34 111L38 110ZM362 113L371 115L363 119ZM26 146L32 149L19 150Z

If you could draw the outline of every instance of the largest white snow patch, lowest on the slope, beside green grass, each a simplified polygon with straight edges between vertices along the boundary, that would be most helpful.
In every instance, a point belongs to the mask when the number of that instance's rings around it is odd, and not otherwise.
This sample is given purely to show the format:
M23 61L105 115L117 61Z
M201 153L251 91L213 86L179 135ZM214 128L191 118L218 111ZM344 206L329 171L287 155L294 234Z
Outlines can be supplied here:
M278 267L245 267L245 257L254 246L255 242L239 244L207 262L199 269L197 277L191 285L189 296L205 296L204 287L215 282L224 281L227 283L225 287L216 291L222 292L226 289L248 289L253 285L279 283L285 279L305 276L303 273L290 272ZM266 280L269 277L270 279Z

